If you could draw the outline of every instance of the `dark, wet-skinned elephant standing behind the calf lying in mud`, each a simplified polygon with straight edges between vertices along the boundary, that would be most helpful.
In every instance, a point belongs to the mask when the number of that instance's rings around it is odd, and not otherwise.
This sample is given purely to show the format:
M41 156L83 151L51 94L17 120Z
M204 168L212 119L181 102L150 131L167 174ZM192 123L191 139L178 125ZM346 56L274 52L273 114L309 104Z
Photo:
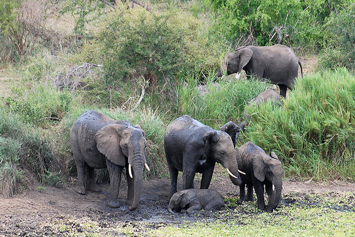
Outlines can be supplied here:
M215 162L238 177L235 144L240 128L228 122L214 130L184 115L172 121L164 134L164 150L170 173L170 196L176 193L178 172L182 171L182 189L194 188L195 173L202 173L201 189L208 189Z

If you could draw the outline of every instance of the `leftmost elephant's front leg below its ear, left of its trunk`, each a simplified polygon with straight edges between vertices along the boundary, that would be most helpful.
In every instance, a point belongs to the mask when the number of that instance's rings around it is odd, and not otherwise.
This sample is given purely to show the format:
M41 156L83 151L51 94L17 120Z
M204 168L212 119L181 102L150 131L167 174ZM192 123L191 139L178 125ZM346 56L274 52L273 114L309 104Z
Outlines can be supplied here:
M106 164L110 176L110 191L111 191L111 197L110 200L107 201L107 206L112 208L118 208L120 207L118 201L118 194L121 186L121 174L122 174L123 166L114 164L111 161L109 161L107 158L106 158Z

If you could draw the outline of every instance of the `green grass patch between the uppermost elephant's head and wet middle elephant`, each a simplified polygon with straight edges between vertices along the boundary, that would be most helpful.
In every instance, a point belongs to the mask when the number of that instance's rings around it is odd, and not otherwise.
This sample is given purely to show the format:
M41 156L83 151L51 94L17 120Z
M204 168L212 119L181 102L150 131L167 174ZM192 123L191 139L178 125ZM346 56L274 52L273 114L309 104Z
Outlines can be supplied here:
M178 85L177 117L189 115L216 128L228 121L237 123L246 102L264 91L270 84L258 80L225 79L218 83L213 78L198 85L195 76L185 78L187 84Z

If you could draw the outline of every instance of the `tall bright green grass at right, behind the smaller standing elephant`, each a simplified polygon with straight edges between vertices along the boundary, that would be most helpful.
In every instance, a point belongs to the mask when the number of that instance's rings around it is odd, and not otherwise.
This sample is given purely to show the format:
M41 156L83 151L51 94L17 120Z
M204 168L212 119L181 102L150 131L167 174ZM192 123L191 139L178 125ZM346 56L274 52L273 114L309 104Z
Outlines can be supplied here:
M355 77L340 68L298 79L284 105L250 111L250 141L282 159L286 176L355 180Z

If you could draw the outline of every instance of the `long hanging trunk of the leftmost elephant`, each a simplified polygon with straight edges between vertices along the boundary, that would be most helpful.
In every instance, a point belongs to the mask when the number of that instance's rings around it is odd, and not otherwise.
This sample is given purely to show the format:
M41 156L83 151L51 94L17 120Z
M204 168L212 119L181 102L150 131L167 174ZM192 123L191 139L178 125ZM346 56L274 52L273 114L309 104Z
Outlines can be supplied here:
M135 210L138 207L142 193L142 179L144 169L143 154L133 158L133 172L134 172L134 198L132 206L129 206L129 210Z

